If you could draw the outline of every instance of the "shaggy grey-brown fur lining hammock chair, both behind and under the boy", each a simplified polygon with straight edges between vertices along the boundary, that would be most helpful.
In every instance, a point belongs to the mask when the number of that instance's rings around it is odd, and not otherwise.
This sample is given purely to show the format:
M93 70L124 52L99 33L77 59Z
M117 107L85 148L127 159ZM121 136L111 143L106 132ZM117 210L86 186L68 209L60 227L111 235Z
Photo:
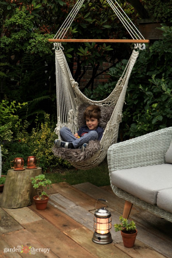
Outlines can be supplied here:
M79 107L78 115L78 127L85 125L85 120L83 113L88 104L83 104ZM105 129L107 122L110 120L114 107L101 107L101 118L99 119L99 126ZM52 147L52 152L54 156L60 157L69 162L79 162L90 159L98 150L100 150L101 145L99 141L90 141L85 148L84 152L81 152L81 149L66 149L66 148L57 148L55 145Z

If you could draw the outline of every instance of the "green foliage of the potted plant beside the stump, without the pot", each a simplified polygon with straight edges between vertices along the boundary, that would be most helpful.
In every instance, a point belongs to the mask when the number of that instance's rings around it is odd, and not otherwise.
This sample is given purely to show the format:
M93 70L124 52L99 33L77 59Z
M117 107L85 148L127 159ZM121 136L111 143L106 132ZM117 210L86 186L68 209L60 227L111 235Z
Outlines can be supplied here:
M46 179L45 175L41 174L36 177L31 177L31 183L35 189L37 189L38 193L38 199L44 200L48 196L46 193L46 189L49 189L49 186L51 186L52 182L50 179Z

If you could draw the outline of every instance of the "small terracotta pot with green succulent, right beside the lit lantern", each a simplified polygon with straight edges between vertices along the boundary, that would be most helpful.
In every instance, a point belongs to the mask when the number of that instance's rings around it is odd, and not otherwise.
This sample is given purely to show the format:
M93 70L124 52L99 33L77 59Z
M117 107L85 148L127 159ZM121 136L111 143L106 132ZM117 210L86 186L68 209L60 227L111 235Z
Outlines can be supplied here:
M133 220L129 223L128 220L122 216L120 216L120 222L121 224L114 224L115 231L121 231L124 246L131 248L134 246L136 240L136 224Z

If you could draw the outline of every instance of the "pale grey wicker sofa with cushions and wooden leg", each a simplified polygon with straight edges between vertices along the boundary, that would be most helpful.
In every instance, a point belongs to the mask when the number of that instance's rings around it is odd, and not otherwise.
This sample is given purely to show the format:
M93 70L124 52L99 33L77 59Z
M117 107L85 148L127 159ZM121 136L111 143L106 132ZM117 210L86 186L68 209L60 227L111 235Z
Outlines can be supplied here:
M135 204L172 222L172 127L113 144L107 162L124 218Z

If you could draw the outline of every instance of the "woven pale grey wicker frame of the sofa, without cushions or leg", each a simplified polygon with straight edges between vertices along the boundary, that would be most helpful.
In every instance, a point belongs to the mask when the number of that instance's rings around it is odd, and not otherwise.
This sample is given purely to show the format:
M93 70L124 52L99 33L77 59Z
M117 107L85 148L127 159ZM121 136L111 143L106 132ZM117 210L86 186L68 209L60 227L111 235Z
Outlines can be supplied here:
M142 167L148 165L158 165L165 163L165 153L172 140L172 127L151 132L149 134L113 144L107 151L107 162L112 190L114 193L128 202L155 213L172 222L172 214L162 210L157 205L148 204L135 196L112 185L112 171L129 169L132 167Z

